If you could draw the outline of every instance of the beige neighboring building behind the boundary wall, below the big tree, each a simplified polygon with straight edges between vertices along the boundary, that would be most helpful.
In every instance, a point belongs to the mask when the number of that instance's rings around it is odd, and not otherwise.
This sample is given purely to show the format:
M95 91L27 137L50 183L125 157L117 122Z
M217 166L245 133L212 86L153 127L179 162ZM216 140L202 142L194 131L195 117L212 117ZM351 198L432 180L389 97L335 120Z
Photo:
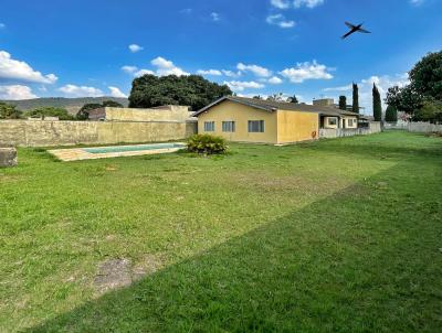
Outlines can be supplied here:
M95 121L186 121L191 117L189 107L167 105L149 109L103 107L90 111Z

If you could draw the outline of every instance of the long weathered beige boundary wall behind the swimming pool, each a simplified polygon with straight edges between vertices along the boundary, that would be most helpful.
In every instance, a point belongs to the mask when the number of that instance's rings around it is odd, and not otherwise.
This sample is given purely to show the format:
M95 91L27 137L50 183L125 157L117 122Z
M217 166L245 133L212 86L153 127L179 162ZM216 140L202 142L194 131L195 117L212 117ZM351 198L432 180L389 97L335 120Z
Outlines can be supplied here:
M50 147L181 140L194 133L191 121L1 120L0 146Z

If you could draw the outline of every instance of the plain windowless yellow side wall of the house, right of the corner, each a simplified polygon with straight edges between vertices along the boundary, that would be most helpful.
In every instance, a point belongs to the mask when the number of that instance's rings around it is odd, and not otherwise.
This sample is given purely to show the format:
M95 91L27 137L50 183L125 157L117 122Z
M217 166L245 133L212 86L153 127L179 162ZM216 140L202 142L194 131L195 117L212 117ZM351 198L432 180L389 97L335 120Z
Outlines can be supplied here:
M277 110L277 143L317 139L318 130L318 114Z

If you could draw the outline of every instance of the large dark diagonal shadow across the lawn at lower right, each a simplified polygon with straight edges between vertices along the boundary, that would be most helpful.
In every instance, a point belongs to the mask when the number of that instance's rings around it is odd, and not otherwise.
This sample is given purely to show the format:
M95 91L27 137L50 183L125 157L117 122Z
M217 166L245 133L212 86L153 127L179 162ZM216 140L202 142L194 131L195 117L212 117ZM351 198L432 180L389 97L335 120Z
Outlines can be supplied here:
M441 179L404 186L397 175L382 172L29 332L436 331Z

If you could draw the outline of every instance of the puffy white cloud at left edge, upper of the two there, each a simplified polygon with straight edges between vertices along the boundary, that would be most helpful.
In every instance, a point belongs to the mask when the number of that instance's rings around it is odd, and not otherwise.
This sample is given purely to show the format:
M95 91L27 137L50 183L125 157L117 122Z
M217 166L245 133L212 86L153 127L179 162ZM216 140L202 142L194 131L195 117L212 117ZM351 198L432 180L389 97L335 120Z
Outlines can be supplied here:
M25 62L17 61L6 51L0 51L0 79L53 84L57 80L54 74L43 75Z

